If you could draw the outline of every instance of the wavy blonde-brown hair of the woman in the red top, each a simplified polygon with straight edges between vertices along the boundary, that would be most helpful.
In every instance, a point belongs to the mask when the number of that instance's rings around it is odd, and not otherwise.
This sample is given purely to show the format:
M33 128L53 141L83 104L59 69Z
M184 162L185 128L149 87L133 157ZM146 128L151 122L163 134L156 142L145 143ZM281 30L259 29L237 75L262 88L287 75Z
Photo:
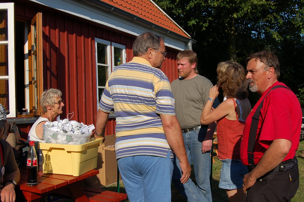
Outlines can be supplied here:
M248 97L245 69L234 61L220 62L217 65L217 85L227 98L245 99Z

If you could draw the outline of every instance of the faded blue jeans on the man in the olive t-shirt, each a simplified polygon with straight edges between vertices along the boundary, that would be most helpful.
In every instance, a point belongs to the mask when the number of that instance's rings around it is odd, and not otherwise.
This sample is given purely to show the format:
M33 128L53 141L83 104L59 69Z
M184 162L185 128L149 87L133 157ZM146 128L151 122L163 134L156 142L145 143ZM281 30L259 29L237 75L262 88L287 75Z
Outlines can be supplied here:
M181 167L178 158L174 156L172 182L188 202L212 201L209 180L211 170L210 152L202 154L202 141L206 137L206 132L207 127L202 127L198 130L183 133L188 161L190 165L193 163L197 186L190 178L185 184L181 183Z

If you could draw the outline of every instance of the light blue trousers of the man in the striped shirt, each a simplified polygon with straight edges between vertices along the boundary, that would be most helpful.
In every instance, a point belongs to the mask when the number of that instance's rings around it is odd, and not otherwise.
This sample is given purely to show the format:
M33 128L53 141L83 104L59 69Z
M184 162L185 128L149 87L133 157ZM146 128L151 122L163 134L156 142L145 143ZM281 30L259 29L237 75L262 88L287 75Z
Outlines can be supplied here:
M171 202L173 158L130 156L117 160L130 202Z

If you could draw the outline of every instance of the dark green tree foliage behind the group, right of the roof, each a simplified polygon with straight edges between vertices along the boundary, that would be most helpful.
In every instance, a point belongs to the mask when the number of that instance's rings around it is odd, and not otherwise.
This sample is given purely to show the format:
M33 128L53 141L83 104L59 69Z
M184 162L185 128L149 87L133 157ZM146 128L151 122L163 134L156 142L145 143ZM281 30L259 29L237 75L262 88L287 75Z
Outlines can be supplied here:
M197 40L200 74L216 83L216 65L245 64L251 52L275 51L280 81L297 94L304 83L304 0L155 0ZM253 104L258 96L250 97Z

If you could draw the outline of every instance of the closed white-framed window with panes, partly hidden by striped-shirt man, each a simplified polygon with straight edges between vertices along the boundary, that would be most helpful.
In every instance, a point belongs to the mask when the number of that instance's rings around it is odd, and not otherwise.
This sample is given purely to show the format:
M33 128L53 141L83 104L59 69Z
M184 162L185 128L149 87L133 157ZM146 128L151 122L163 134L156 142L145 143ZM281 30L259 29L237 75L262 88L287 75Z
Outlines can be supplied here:
M126 63L126 46L95 38L97 103L99 103L105 83L112 70Z

